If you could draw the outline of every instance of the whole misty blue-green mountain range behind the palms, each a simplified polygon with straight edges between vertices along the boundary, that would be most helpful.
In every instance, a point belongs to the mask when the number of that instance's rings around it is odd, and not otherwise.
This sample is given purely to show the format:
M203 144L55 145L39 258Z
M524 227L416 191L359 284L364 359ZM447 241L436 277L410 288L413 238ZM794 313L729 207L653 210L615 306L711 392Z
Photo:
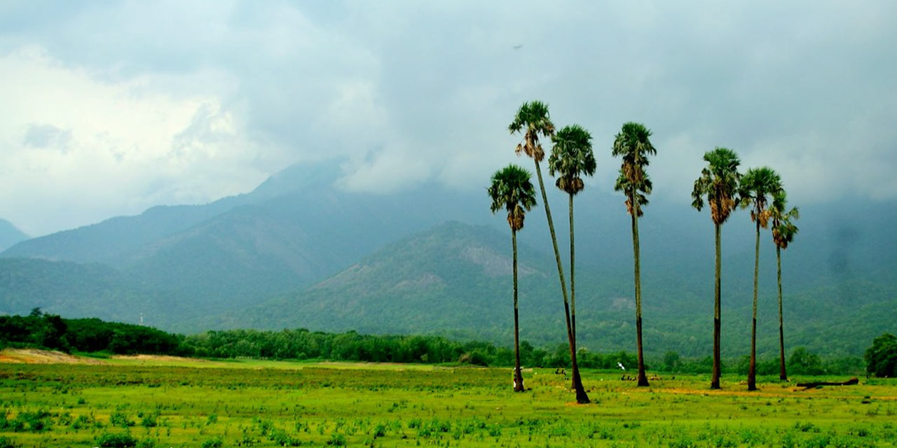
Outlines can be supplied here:
M131 323L144 314L146 323L179 332L307 327L510 340L509 229L503 213L489 212L484 186L465 192L424 183L363 194L339 188L340 175L335 163L297 165L248 194L154 207L22 241L0 254L0 312L42 306ZM553 186L549 196L568 269L567 197ZM580 347L632 349L623 197L587 188L575 204ZM782 254L789 347L857 356L875 335L897 331L894 205L801 206L800 232ZM521 337L553 345L565 335L542 207L518 234ZM723 227L727 356L746 353L749 341L753 232L746 211ZM710 353L708 211L651 202L640 237L646 350ZM768 230L761 246L759 344L761 353L773 353L776 269Z

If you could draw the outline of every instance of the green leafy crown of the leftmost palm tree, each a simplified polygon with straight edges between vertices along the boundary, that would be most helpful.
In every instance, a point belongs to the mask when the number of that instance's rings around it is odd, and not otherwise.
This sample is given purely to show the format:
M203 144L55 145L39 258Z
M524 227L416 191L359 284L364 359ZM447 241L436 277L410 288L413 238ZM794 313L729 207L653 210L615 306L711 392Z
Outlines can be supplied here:
M492 213L507 210L508 224L514 231L523 228L526 212L536 206L536 188L530 176L526 169L510 164L492 175L492 185L487 189Z

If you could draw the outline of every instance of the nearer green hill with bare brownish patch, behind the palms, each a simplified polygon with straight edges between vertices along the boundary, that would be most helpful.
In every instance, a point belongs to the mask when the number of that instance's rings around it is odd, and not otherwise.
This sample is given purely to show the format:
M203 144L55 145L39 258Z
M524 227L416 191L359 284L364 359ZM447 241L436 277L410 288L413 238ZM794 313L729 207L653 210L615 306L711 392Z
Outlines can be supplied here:
M448 222L386 246L308 289L239 312L207 316L191 326L432 333L509 344L513 323L508 240L509 235L490 227ZM565 327L553 257L521 245L519 259L521 338L541 346L562 343ZM727 279L752 279L747 281L751 286L729 288L724 297L723 351L728 357L745 354L749 347L753 259L745 264L752 270L727 271ZM602 273L591 262L578 266L579 346L632 350L631 274ZM626 268L631 269L631 258ZM712 278L704 273L695 276L701 281L692 282L652 274L645 283L647 352L655 357L666 350L687 356L709 353ZM766 263L762 275L758 346L762 356L773 357L778 350L774 264ZM873 279L857 278L799 289L786 294L785 308L788 347L858 356L883 329L893 329L897 285L883 287ZM802 318L790 318L798 315Z

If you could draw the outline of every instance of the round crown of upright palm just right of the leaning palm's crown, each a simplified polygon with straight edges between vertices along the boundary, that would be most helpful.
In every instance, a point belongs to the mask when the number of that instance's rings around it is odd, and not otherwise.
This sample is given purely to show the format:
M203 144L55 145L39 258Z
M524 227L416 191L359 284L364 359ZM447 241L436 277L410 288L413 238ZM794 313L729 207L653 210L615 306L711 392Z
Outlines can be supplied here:
M582 175L595 174L597 164L592 152L592 134L580 125L569 125L552 137L554 146L548 157L548 174L555 176L554 185L569 194L577 194L585 187Z

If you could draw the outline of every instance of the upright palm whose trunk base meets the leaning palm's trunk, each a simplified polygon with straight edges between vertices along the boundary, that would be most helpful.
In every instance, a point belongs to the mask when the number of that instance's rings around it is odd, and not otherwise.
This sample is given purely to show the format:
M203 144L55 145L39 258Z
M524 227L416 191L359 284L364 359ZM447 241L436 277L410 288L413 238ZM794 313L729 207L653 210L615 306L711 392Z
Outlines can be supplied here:
M585 188L582 176L595 174L597 164L592 152L592 134L580 125L569 125L552 138L548 174L557 176L554 185L570 195L570 326L576 344L576 257L573 244L573 196Z

